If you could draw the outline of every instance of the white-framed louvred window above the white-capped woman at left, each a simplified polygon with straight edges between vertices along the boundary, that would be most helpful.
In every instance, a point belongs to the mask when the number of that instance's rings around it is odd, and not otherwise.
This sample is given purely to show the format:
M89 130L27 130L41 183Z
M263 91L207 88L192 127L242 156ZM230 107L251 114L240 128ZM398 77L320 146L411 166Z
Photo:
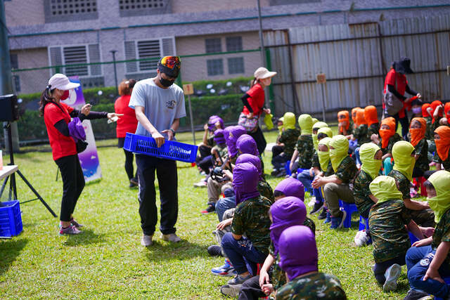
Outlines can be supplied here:
M69 65L59 70L67 76L95 77L102 75L101 65L86 65L100 63L100 46L98 44L51 46L49 61L52 66ZM53 69L53 73L56 69Z

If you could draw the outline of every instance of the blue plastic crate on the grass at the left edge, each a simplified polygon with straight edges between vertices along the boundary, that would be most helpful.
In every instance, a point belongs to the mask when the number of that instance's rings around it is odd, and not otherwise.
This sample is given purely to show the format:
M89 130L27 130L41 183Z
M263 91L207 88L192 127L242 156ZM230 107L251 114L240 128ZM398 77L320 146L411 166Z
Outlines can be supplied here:
M17 200L1 202L0 205L0 236L13 237L23 230L20 205Z

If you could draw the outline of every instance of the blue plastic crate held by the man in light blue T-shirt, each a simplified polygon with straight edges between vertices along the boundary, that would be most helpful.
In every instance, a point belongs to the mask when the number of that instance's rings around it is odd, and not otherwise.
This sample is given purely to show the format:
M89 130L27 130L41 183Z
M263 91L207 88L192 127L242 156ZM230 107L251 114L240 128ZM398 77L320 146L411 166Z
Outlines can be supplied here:
M164 145L158 148L154 138L127 132L124 150L181 162L195 162L198 146L166 140Z

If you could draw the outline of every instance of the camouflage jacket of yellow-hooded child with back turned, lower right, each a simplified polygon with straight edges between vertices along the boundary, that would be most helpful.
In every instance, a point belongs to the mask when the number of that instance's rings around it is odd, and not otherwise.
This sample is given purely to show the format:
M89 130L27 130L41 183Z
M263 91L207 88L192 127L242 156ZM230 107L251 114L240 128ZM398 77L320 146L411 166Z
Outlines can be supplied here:
M411 241L405 225L410 221L410 211L402 200L387 200L373 205L368 216L368 228L371 231L375 263L406 254Z

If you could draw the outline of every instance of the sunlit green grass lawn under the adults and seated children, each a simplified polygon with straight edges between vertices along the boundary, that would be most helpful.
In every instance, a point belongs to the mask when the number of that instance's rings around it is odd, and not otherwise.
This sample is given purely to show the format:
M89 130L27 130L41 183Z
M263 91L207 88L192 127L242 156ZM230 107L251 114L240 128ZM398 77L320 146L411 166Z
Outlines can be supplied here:
M197 133L197 143L201 136ZM178 136L179 141L186 142L192 142L191 137L191 133ZM276 132L266 133L266 139L274 142ZM144 248L140 244L137 190L128 188L124 153L116 144L115 140L98 142L103 179L87 184L78 201L75 218L85 226L81 235L58 235L58 219L39 201L21 206L23 233L12 240L0 240L0 299L223 298L219 287L229 278L210 272L223 259L212 258L206 252L214 243L212 230L217 216L200 214L207 197L206 189L193 188L193 183L201 178L197 169L179 163L176 233L182 242L164 242L157 232L154 244ZM271 171L270 158L271 153L266 153L266 174ZM15 160L59 215L63 188L60 179L55 181L57 167L51 152L25 152L15 155ZM8 157L4 157L4 162L8 162ZM272 188L279 181L281 178L269 176ZM20 200L32 196L18 179ZM312 219L317 227L319 269L336 275L349 299L403 299L408 291L406 267L399 278L398 291L385 294L371 271L372 247L354 245L359 216L354 215L352 228L341 230L330 230L316 216Z

